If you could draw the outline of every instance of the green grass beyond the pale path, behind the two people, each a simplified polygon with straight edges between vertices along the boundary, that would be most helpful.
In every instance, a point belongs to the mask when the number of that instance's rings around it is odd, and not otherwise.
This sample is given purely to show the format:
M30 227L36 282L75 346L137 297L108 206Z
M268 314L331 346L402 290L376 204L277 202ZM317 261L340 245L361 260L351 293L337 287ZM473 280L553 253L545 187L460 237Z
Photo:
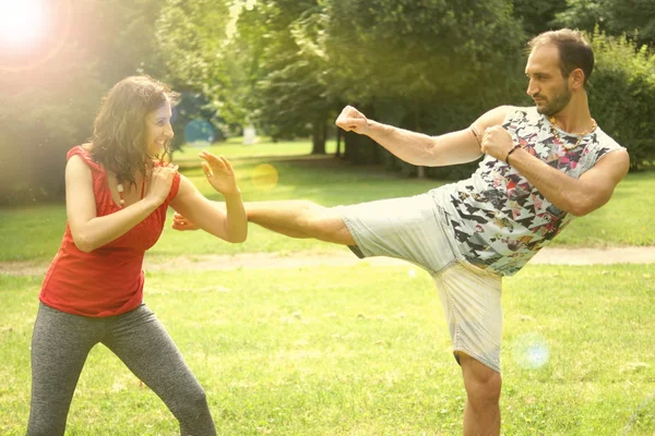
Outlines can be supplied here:
M198 161L198 160L196 160ZM415 195L443 184L436 180L406 179L378 167L353 166L327 157L271 157L233 159L245 201L307 198L334 206L380 198ZM261 183L255 175L263 165L273 166L277 183ZM183 173L210 198L221 199L200 169ZM603 208L580 218L555 240L567 246L655 245L648 219L655 210L655 172L629 174ZM171 214L171 213L170 213ZM170 215L169 214L169 215ZM170 222L170 220L169 220ZM1 261L47 261L59 247L66 227L62 205L36 205L0 209ZM331 251L326 243L293 240L250 226L246 243L233 245L203 232L176 232L169 228L152 255L234 254L242 252Z

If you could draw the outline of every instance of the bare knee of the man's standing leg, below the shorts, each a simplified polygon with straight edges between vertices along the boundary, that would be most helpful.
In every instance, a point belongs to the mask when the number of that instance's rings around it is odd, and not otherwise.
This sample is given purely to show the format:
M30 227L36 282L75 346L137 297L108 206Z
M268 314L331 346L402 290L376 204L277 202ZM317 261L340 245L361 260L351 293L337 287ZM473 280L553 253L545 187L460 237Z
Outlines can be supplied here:
M460 352L458 360L469 401L497 404L502 387L500 374L465 353Z

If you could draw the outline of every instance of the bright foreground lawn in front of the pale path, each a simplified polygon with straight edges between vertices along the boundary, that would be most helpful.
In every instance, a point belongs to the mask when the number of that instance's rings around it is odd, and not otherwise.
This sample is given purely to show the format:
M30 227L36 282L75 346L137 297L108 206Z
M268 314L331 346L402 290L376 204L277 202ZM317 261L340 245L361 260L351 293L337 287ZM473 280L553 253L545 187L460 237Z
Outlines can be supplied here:
M146 302L222 435L456 435L463 386L433 284L413 266L148 274ZM652 435L655 266L527 266L505 280L504 435ZM40 277L0 276L0 434L24 434ZM549 359L523 363L540 341ZM175 435L104 347L70 435Z

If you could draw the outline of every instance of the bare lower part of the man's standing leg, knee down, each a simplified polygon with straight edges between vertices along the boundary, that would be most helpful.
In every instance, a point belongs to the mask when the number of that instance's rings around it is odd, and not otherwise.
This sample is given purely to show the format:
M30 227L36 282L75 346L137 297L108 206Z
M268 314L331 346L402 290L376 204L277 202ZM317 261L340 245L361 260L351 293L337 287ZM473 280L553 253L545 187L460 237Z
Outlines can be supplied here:
M464 436L500 434L500 374L469 355L457 352L466 388Z

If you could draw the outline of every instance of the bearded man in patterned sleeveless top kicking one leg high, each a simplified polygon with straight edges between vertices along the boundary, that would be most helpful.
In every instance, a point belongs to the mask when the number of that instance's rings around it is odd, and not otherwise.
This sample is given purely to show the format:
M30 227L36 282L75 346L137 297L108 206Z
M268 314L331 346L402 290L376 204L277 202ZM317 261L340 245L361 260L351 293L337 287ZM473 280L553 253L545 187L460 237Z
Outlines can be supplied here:
M348 245L430 272L467 393L465 435L500 433L501 279L519 271L574 217L609 201L627 150L590 113L594 53L579 32L535 37L525 74L535 107L502 106L469 129L437 137L368 120L346 107L336 125L367 135L417 166L486 155L467 180L409 198L324 208L310 202L247 205L249 221L295 238ZM192 227L177 216L174 227Z

